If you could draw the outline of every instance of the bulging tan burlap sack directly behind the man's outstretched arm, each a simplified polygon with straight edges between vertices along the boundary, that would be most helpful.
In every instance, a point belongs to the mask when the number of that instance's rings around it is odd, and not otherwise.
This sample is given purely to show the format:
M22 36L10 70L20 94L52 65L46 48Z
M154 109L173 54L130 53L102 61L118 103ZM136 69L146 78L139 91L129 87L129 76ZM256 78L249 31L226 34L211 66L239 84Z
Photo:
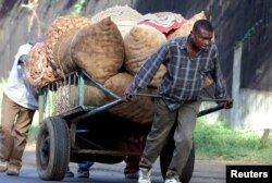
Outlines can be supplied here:
M125 69L131 74L136 74L146 59L165 41L165 36L158 29L148 25L135 25L124 37ZM149 86L158 87L164 73L165 66L161 65Z

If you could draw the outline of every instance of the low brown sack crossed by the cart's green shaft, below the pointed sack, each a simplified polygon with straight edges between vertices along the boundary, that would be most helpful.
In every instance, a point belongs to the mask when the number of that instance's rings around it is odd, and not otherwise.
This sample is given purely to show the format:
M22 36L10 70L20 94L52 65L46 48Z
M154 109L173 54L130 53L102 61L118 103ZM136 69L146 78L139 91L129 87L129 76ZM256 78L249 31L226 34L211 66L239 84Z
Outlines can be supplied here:
M109 78L104 85L116 95L122 96L132 80L132 75L119 73ZM152 91L152 89L146 88L141 93L150 94ZM109 111L138 124L150 124L153 119L153 106L151 98L148 97L133 97L132 101L118 105Z

